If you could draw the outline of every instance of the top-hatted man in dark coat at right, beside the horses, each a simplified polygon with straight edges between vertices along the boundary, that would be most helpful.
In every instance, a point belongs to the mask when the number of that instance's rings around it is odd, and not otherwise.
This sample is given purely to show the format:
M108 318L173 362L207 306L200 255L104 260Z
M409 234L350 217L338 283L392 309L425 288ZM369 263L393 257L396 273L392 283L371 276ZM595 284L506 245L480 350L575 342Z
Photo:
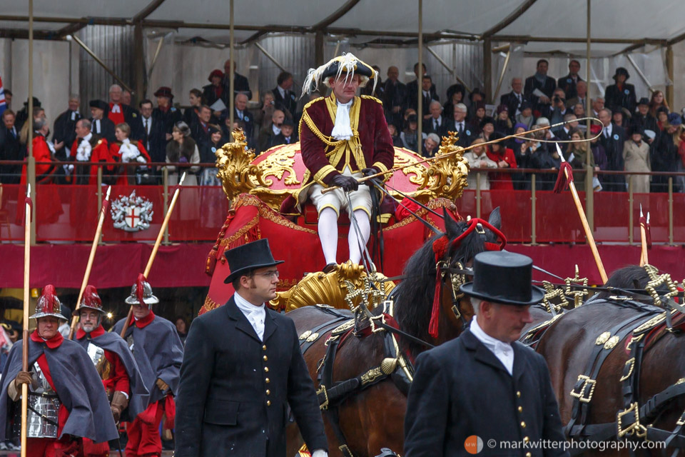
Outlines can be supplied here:
M474 282L461 286L475 310L470 329L417 357L403 455L470 456L481 451L475 435L487 443L484 456L568 456L558 448L566 438L547 363L517 341L544 296L531 286L532 260L486 251L474 270ZM546 440L557 446L543 448Z

